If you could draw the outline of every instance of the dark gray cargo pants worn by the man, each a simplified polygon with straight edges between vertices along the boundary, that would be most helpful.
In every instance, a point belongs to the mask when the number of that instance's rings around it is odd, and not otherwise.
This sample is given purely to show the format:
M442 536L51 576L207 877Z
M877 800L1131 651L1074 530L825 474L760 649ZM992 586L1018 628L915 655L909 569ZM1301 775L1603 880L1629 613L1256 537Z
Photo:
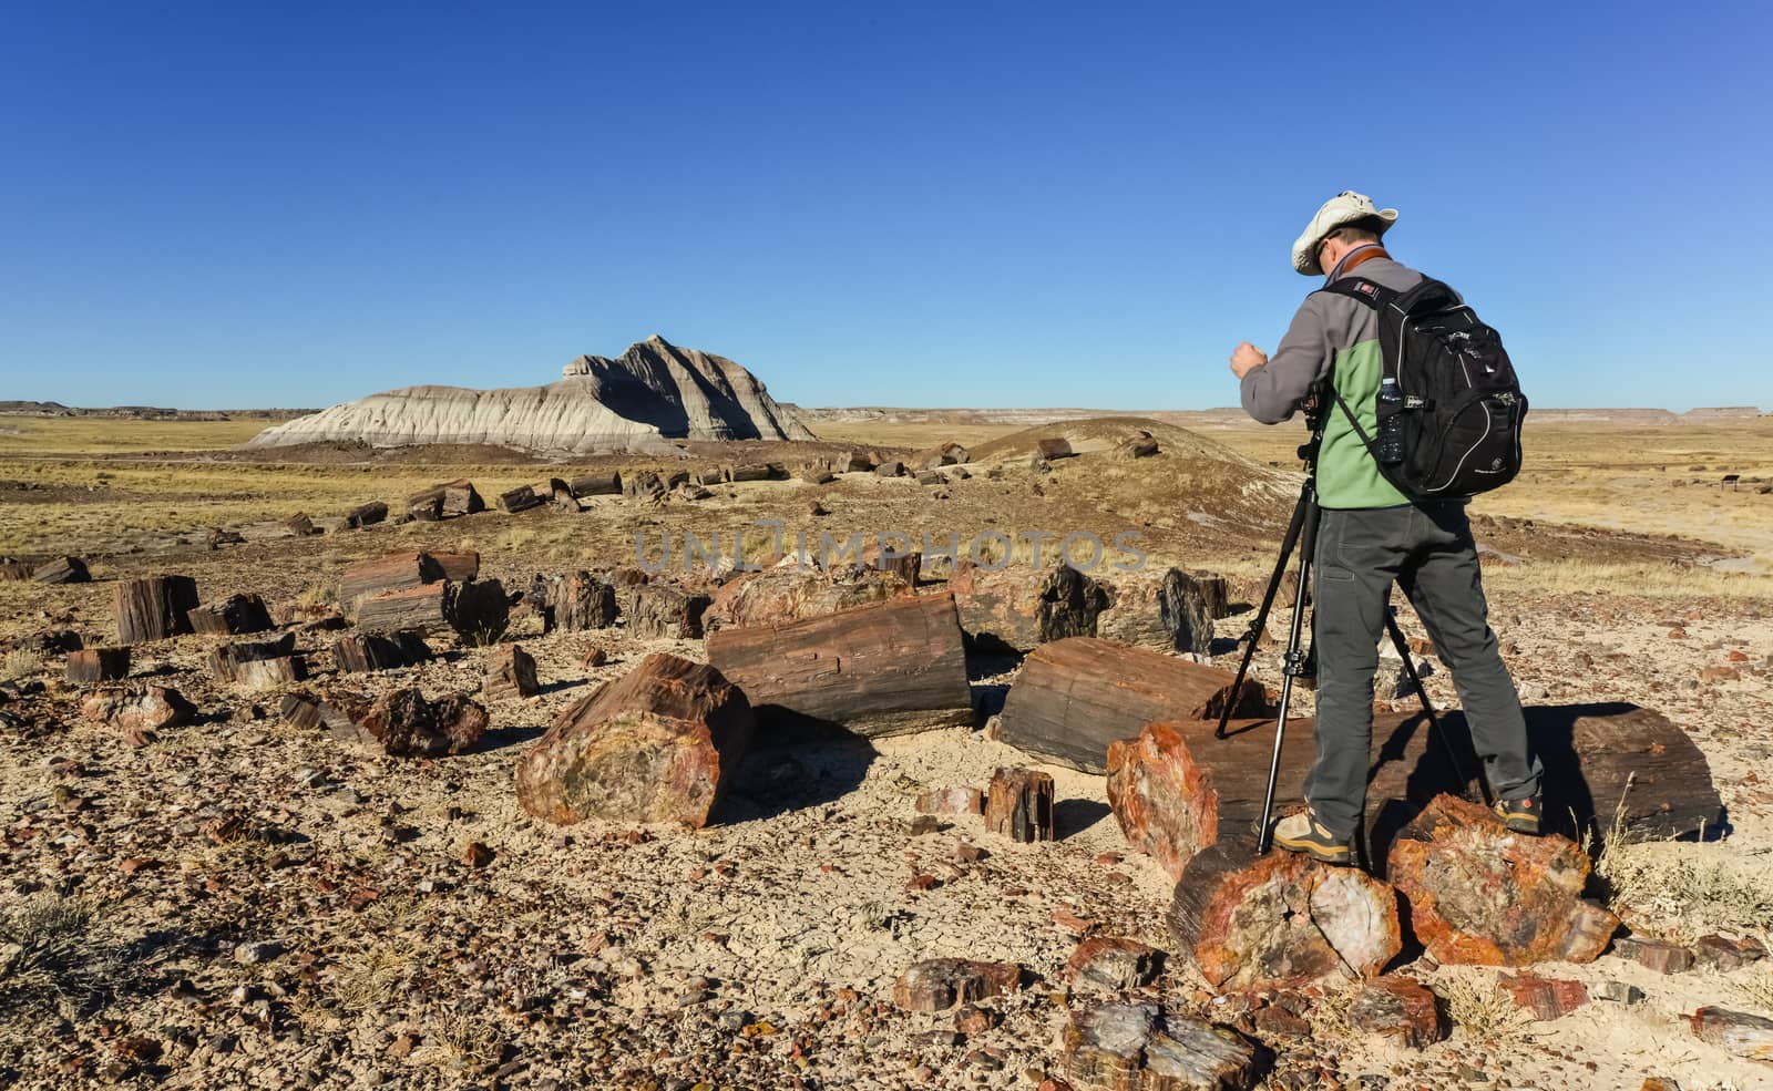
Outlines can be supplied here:
M1360 829L1367 806L1372 675L1394 581L1452 671L1489 786L1507 799L1539 792L1539 760L1527 753L1521 701L1489 629L1464 505L1326 510L1317 530L1312 615L1317 760L1305 799L1342 840Z

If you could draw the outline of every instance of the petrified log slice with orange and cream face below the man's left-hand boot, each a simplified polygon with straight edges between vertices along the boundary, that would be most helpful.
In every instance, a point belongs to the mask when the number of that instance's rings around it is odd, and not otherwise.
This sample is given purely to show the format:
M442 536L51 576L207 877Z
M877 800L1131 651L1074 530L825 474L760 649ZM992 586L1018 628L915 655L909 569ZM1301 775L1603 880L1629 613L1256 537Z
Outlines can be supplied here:
M1397 894L1358 868L1215 845L1183 870L1170 935L1218 990L1378 976L1402 949Z

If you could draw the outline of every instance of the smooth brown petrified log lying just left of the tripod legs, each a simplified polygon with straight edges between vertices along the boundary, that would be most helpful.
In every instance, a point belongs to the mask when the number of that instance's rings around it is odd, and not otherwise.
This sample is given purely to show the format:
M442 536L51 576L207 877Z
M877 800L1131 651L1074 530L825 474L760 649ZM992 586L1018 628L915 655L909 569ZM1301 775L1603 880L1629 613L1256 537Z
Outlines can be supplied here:
M1090 636L1053 641L1023 661L1004 701L998 739L1060 765L1106 772L1108 746L1136 737L1152 721L1216 719L1234 680L1216 666L1119 641ZM1236 712L1271 710L1268 691L1245 680ZM1252 776L1266 772L1264 753L1261 770Z

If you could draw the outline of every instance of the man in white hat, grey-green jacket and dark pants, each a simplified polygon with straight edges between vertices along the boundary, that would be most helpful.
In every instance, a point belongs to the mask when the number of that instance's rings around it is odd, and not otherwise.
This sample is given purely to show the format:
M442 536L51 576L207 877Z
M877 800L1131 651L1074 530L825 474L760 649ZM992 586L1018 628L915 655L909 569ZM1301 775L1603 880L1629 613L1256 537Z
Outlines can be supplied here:
M1293 267L1326 276L1324 283L1358 275L1386 289L1410 289L1422 275L1379 244L1395 221L1397 209L1376 209L1367 197L1344 191L1317 209L1293 244ZM1378 337L1371 306L1339 292L1312 292L1273 360L1250 342L1232 352L1245 411L1268 425L1289 420L1312 384L1328 377L1374 436L1383 372ZM1317 760L1305 781L1310 808L1280 820L1275 845L1332 864L1353 859L1367 806L1372 675L1394 581L1452 671L1496 813L1509 829L1537 834L1539 762L1527 753L1521 703L1489 629L1464 501L1411 505L1379 473L1335 398L1326 402L1314 590Z

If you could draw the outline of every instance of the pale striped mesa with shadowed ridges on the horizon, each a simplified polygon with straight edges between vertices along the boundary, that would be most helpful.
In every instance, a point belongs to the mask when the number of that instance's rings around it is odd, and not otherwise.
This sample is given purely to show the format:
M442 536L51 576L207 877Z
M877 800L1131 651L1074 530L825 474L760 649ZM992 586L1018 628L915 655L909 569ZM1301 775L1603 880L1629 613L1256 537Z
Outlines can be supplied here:
M580 356L548 386L408 386L321 409L246 446L486 443L543 452L658 452L670 439L814 439L738 363L652 335L615 360Z

